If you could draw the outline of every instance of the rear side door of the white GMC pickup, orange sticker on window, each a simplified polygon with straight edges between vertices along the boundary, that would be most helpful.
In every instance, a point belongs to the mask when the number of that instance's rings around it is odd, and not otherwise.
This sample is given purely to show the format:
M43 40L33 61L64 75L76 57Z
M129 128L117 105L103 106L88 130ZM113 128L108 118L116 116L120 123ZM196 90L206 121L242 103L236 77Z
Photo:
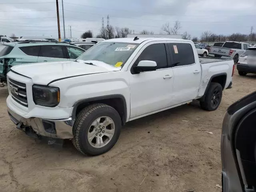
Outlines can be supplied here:
M201 80L201 65L196 63L192 44L168 42L174 73L173 102L180 104L193 100L198 95Z

